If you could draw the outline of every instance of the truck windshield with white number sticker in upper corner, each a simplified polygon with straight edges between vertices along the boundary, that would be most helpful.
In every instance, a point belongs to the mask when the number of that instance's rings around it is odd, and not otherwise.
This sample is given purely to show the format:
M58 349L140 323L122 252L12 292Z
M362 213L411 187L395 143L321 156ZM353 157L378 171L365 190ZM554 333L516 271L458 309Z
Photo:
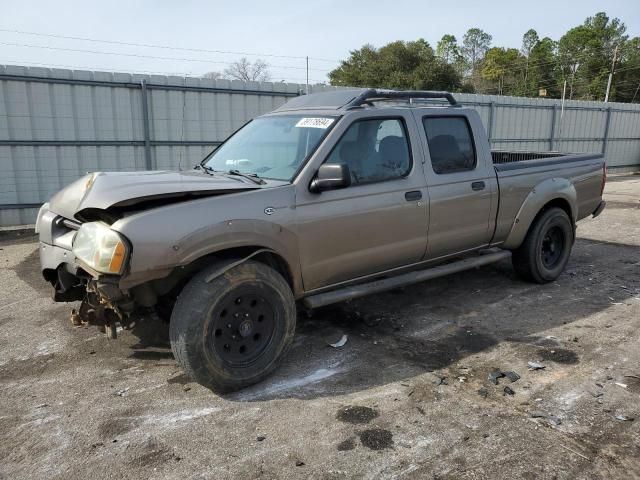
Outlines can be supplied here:
M286 115L256 118L204 160L212 170L291 181L336 117Z

